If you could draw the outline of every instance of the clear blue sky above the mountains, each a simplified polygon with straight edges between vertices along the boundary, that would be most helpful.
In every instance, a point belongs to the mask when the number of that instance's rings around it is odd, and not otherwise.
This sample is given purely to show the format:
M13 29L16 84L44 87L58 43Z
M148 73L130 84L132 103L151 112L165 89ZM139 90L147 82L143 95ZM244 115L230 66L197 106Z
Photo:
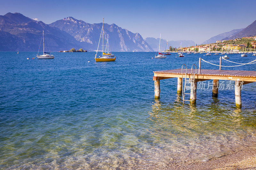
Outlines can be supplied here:
M220 33L244 28L256 20L255 0L1 0L0 15L20 12L46 24L72 16L140 33L143 38L193 40L202 43Z

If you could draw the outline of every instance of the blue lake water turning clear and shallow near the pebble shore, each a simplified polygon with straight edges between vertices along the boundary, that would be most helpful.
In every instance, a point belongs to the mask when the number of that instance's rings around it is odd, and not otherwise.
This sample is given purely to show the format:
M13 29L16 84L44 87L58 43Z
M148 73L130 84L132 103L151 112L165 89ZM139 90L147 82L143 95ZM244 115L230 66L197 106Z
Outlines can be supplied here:
M91 52L54 53L53 60L0 52L0 168L155 169L255 144L256 83L243 86L242 109L233 89L220 89L218 98L198 89L196 106L182 106L176 78L161 80L154 100L153 71L191 68L199 57L218 64L219 56L115 54L116 62L95 63Z

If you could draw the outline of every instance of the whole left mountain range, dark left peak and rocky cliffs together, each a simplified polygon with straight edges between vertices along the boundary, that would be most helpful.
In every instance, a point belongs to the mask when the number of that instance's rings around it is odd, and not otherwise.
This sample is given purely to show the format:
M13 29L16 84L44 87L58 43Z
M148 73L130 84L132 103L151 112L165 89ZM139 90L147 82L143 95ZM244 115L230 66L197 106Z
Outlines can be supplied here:
M101 27L102 23L89 24L73 17L45 24L20 13L9 12L0 15L0 51L37 51L43 30L45 45L52 51L71 48L96 50ZM116 24L104 24L104 44L107 34L112 51L153 51L139 33L132 33Z

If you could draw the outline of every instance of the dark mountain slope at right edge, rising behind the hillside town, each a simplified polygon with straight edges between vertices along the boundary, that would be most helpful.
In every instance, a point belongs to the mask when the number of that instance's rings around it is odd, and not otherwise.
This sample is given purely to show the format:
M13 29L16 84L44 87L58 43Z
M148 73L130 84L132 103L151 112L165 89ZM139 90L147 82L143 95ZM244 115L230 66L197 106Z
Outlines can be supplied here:
M238 33L232 35L231 37L226 37L223 40L234 40L236 38L251 37L255 35L256 35L256 20L251 25L242 29Z

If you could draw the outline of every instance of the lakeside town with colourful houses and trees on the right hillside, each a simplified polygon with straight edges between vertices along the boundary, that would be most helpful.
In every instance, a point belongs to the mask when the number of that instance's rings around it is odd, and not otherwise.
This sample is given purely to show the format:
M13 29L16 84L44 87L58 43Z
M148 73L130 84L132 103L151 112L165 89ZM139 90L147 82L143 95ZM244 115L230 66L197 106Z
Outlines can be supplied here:
M222 40L216 41L210 44L201 44L196 46L172 48L165 50L164 52L230 52L230 53L242 53L242 52L255 52L256 36L236 38L234 40Z

